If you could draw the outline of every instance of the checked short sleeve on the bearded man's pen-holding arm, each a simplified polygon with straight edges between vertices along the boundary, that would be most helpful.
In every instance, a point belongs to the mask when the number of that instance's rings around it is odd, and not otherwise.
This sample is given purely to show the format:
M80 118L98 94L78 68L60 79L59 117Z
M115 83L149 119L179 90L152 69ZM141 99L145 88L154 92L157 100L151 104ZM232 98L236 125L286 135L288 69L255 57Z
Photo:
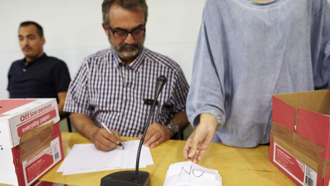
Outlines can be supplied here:
M69 85L67 98L65 99L65 112L74 112L89 116L91 110L89 107L88 74L88 63L84 61L76 77Z

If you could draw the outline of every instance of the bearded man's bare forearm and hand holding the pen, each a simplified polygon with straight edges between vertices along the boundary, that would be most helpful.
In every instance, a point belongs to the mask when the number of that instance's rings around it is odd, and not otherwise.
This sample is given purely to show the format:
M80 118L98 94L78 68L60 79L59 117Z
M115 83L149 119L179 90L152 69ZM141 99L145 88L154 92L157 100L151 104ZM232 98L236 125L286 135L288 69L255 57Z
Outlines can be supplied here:
M78 132L89 138L98 150L109 151L114 149L120 143L120 135L115 130L111 132L115 135L109 134L107 130L95 125L94 121L85 114L72 113L70 115L72 125Z

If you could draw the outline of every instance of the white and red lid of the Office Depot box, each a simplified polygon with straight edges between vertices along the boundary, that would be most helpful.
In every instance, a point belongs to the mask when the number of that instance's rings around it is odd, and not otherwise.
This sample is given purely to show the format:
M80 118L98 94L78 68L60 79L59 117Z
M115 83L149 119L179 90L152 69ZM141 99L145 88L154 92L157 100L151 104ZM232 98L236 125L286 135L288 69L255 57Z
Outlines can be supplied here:
M0 131L10 132L11 147L37 127L60 121L56 99L1 99Z

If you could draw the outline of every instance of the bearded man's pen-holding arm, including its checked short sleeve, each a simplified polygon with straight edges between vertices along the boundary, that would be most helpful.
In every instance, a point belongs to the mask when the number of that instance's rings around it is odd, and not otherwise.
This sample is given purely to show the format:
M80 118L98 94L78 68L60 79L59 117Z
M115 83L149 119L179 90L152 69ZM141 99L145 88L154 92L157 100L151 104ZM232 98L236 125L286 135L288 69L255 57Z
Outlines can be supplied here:
M115 134L115 137L109 134L107 130L100 129L89 117L95 112L91 109L93 105L90 102L88 82L89 63L88 60L85 60L69 85L64 110L71 113L72 125L80 134L89 138L96 149L109 151L117 146L120 136L114 130L111 132Z

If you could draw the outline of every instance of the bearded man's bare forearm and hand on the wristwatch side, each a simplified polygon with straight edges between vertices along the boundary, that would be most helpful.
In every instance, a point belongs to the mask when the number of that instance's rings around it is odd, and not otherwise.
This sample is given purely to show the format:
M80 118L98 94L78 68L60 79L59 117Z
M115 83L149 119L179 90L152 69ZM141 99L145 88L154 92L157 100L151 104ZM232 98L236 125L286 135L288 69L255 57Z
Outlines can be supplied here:
M175 123L179 127L179 130L182 131L188 125L188 118L186 111L177 112L173 115L173 118L170 122ZM146 136L144 137L144 145L146 147L157 147L164 141L169 140L174 136L174 133L167 125L161 125L159 123L153 123L148 127L146 131ZM141 138L142 135L139 136Z

